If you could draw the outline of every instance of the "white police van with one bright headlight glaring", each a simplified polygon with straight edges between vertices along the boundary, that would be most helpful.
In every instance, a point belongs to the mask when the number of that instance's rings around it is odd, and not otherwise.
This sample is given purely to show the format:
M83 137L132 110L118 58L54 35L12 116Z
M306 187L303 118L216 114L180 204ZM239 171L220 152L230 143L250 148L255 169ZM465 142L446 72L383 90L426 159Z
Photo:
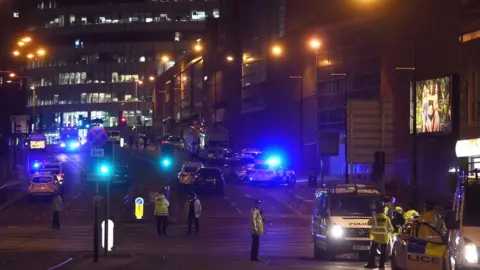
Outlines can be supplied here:
M331 260L335 255L354 253L368 258L370 226L367 224L383 197L377 187L325 185L315 194L312 215L314 257Z

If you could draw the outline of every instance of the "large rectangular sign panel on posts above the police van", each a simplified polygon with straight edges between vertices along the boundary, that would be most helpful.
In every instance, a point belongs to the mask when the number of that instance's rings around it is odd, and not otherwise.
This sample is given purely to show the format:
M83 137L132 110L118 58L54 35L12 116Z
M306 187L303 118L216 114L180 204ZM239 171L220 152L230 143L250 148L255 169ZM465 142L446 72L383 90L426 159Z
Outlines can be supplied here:
M385 152L385 163L393 158L393 109L390 102L349 101L347 107L348 162L373 164L374 153Z

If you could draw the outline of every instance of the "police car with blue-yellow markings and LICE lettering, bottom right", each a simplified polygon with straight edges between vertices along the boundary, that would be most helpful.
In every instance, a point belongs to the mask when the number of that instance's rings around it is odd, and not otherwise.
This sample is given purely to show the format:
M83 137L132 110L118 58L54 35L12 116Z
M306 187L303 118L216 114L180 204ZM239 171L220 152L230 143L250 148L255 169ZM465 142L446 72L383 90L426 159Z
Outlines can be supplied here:
M420 226L432 232L428 237L419 237ZM423 239L422 239L423 238ZM396 237L392 250L392 270L444 270L452 268L448 252L448 240L442 232L428 223L406 223Z

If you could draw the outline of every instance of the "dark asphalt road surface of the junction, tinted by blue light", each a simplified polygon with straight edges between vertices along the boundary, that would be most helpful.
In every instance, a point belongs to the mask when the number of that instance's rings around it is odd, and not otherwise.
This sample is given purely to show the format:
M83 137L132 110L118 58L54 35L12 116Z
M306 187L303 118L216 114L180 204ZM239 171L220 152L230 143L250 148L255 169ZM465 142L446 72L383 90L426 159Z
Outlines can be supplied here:
M0 206L0 269L363 268L364 263L355 256L338 258L334 262L313 260L310 216L314 190L301 183L296 187L227 184L224 196L200 195L203 206L200 234L187 236L182 211L186 194L175 185L175 175L186 155L175 153L174 168L165 173L159 167L159 154L123 148L115 150L115 160L129 165L133 181L138 185L133 197L145 199L144 217L136 220L131 201L125 204L126 187L112 186L109 217L115 222L114 251L109 258L104 258L102 252L100 261L93 264L92 196L95 188L82 184L80 175L82 171L94 170L96 160L89 157L87 150L43 155L62 160L66 167L61 229L51 229L49 200L30 202L21 196L26 181L7 190L11 194L6 196L7 201L13 203L6 208ZM150 197L166 185L171 185L169 236L159 237ZM100 188L100 193L103 192ZM249 213L254 199L262 200L266 218L265 235L260 243L261 262L249 261ZM104 208L102 201L101 220Z

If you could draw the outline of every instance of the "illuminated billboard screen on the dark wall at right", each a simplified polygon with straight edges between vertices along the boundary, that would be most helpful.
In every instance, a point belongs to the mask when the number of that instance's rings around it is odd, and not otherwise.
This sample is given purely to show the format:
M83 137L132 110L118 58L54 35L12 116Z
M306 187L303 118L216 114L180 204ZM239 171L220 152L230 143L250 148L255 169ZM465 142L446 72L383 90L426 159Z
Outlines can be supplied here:
M414 94L417 98L416 132L450 133L452 131L452 76L418 81ZM411 102L410 111L414 113L412 105ZM413 117L410 119L413 121Z

